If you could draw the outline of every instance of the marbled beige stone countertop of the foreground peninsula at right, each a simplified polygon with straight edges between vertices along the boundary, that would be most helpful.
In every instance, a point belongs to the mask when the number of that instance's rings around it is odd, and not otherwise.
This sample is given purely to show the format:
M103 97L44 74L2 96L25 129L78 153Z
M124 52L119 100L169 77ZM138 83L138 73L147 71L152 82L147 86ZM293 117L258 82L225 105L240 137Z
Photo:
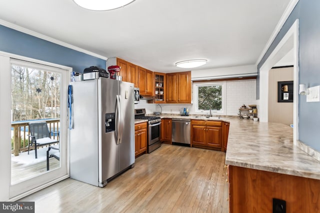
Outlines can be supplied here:
M320 162L293 145L293 129L279 123L229 119L225 164L320 180Z

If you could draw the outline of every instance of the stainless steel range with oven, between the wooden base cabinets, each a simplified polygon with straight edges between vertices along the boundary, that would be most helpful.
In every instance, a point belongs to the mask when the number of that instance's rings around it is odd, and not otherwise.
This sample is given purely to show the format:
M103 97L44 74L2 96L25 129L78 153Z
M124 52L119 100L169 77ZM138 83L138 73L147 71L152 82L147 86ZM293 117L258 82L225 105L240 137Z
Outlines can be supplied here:
M135 119L148 120L148 140L147 140L147 153L150 153L161 146L160 142L160 121L158 116L145 116L145 109L134 110Z

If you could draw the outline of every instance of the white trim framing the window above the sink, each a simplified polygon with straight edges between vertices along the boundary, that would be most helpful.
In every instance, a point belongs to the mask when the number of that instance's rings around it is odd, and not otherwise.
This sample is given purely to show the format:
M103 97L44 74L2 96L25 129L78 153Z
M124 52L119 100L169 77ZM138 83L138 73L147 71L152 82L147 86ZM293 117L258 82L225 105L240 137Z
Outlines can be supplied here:
M209 114L209 110L198 110L198 87L199 86L216 86L221 85L222 88L222 110L216 111L211 110L213 115L226 115L226 81L218 81L218 82L193 82L193 112L196 114Z

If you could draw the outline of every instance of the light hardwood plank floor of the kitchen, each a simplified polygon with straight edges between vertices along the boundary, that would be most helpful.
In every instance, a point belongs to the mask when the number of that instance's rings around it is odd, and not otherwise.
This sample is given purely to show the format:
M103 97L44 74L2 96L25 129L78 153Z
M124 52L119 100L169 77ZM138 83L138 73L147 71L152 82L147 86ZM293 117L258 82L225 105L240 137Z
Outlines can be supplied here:
M162 144L104 188L72 179L21 199L36 213L227 213L225 153Z

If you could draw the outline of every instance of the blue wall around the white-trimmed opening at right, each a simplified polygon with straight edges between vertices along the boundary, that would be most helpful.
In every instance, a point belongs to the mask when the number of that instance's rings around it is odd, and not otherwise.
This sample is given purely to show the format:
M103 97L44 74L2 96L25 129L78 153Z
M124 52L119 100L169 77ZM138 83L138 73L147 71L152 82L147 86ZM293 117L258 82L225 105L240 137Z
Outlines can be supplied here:
M273 43L261 59L257 69L263 65L270 53L299 19L299 82L308 87L320 85L320 0L299 0L285 21ZM259 99L257 80L256 95ZM299 140L320 151L320 102L306 102L299 95Z

